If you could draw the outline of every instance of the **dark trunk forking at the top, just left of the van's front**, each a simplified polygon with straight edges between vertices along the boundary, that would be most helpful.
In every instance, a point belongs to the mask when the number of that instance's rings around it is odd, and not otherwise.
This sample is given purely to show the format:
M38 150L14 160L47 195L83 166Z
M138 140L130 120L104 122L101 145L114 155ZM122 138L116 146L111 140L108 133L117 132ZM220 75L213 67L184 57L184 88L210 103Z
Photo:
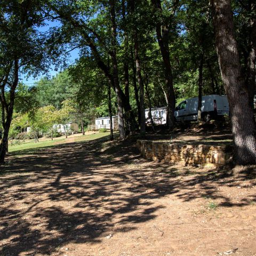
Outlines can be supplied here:
M162 15L162 5L161 0L151 0L155 9ZM178 6L179 1L175 1L176 7ZM175 8L176 8L175 7ZM174 10L175 10L174 8ZM173 11L173 15L174 15ZM170 18L171 19L171 18ZM156 36L158 45L161 50L163 64L164 64L164 75L165 75L165 85L167 89L167 126L171 128L174 125L174 110L175 110L175 94L173 88L173 75L172 75L172 66L170 60L170 51L169 51L169 33L170 29L168 25L161 24L161 22L156 22Z

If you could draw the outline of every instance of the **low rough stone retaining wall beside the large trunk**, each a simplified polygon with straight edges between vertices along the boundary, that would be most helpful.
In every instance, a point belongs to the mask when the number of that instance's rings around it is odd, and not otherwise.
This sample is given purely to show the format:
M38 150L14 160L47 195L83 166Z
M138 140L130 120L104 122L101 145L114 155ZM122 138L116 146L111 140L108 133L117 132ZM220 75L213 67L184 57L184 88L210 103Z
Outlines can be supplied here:
M185 145L162 141L137 140L144 158L169 163L224 165L230 157L230 146Z

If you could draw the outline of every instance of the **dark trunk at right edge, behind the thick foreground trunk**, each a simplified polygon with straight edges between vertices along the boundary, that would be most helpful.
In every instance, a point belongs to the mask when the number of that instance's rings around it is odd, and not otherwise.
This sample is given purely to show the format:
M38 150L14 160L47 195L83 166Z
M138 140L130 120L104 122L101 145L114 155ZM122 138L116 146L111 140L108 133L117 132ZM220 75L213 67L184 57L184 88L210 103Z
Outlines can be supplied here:
M249 91L249 104L254 109L254 94L255 94L255 78L256 78L256 69L255 69L255 63L256 63L256 1L251 1L251 18L250 18L250 53L249 58L247 60L247 78L246 82L248 85L248 91Z

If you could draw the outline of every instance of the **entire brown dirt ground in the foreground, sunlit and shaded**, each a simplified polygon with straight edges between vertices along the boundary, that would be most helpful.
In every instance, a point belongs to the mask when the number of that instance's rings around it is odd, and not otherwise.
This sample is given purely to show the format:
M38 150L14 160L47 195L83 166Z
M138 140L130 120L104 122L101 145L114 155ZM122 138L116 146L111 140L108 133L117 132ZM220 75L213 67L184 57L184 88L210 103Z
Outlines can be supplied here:
M26 154L0 175L0 255L256 255L253 166L149 162L104 138Z

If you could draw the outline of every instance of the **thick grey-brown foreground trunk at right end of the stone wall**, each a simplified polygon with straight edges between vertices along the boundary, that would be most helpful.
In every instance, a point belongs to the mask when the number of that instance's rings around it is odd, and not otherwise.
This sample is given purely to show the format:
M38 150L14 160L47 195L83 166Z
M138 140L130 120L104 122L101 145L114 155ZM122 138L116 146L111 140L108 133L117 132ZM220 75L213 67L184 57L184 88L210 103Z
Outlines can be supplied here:
M225 86L237 164L256 163L256 127L242 74L230 0L211 0L213 26L222 81Z

